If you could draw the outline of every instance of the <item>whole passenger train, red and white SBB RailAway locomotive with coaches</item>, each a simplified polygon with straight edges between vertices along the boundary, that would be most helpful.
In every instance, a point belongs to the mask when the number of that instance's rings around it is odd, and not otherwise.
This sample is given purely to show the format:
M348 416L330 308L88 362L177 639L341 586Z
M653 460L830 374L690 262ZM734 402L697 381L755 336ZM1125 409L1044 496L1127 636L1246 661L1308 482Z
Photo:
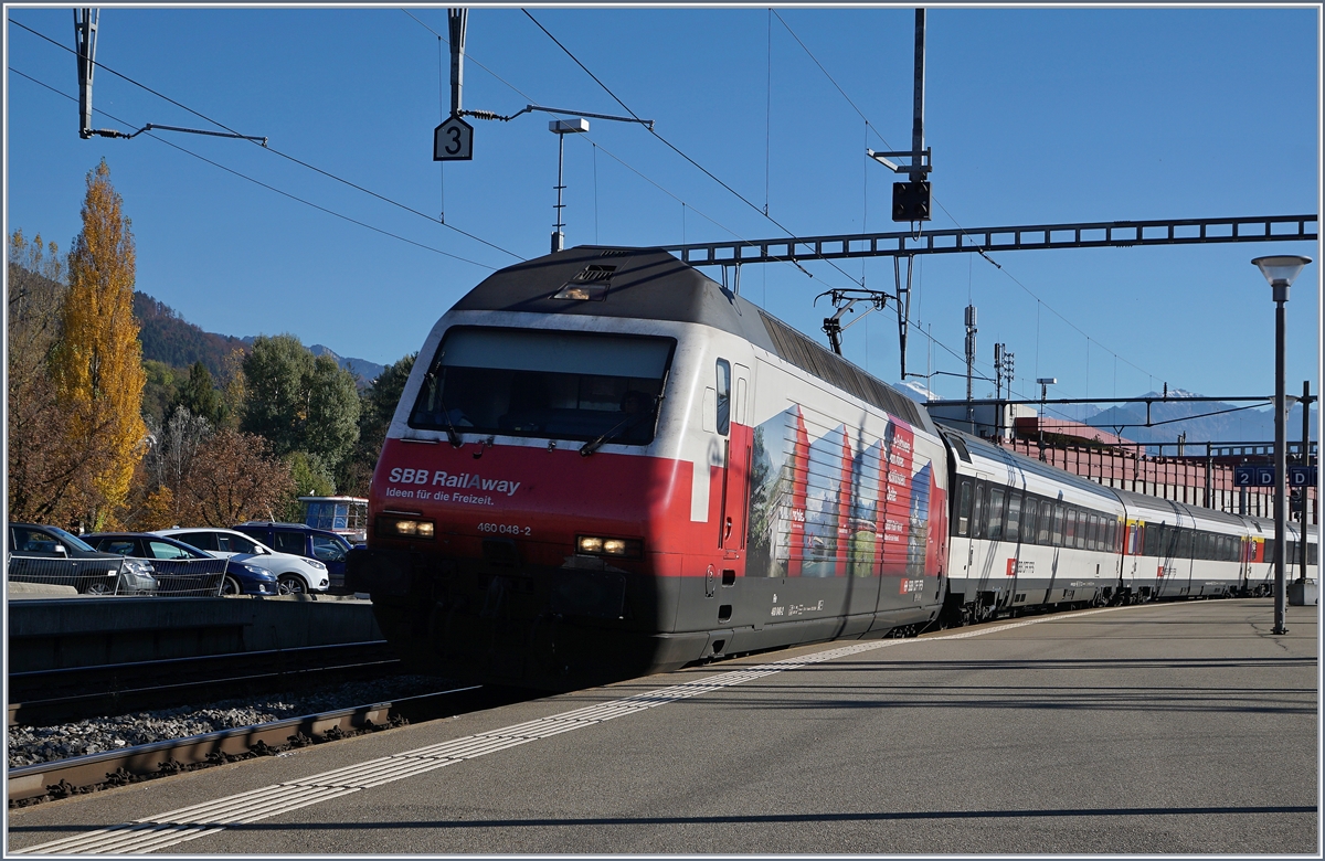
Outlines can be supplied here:
M415 668L551 689L1246 588L1246 540L1232 567L1142 566L1153 525L1181 550L1196 517L1142 499L939 432L665 252L575 248L494 273L433 327L351 582Z

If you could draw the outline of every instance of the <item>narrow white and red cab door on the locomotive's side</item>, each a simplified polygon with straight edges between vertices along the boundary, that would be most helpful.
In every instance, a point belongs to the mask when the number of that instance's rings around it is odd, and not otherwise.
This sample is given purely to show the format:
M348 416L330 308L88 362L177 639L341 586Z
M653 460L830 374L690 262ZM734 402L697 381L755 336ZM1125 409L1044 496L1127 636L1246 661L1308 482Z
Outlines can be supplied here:
M750 507L750 368L718 359L718 433L723 441L722 511L718 515L718 546L726 559L739 559L746 544ZM734 576L734 575L729 575Z

